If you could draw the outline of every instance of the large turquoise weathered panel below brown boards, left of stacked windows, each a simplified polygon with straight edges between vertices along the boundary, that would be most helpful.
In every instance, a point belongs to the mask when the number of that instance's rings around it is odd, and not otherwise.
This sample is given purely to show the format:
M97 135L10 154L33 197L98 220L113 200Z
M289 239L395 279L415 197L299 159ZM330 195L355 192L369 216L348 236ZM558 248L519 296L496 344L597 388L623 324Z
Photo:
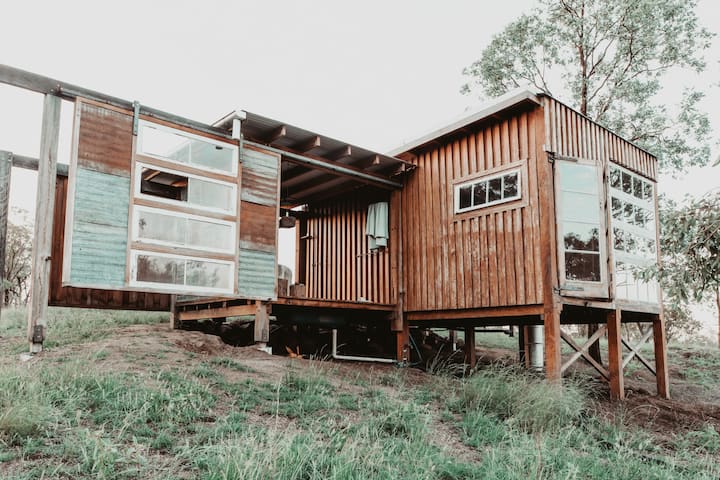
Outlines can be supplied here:
M125 285L130 179L78 168L70 283Z

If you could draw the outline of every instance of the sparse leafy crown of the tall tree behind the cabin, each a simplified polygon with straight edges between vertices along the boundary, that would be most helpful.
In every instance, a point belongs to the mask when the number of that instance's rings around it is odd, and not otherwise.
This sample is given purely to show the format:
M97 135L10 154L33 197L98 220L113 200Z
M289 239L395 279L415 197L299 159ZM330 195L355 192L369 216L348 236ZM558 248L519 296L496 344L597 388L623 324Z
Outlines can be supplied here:
M696 0L543 0L495 35L463 73L489 96L531 85L658 156L666 171L709 161L703 94L686 90L672 111L662 97L671 70L701 72L713 34ZM674 113L673 113L674 112ZM672 117L671 113L675 116Z

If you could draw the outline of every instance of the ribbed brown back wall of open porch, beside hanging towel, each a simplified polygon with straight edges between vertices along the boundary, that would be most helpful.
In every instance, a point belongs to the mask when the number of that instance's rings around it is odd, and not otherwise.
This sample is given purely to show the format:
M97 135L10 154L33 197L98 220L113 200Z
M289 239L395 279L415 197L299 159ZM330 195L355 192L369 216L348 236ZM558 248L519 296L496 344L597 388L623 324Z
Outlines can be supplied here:
M389 249L371 252L365 236L368 205L388 200L371 200L360 191L310 208L307 238L300 240L306 242L308 297L391 302Z

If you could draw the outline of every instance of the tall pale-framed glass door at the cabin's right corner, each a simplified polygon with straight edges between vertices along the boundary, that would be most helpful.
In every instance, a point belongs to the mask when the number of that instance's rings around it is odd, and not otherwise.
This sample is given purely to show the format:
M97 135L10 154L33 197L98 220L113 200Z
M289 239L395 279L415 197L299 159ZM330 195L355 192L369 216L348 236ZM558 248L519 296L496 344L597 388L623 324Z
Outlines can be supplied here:
M600 169L591 163L557 160L555 172L562 294L608 298Z

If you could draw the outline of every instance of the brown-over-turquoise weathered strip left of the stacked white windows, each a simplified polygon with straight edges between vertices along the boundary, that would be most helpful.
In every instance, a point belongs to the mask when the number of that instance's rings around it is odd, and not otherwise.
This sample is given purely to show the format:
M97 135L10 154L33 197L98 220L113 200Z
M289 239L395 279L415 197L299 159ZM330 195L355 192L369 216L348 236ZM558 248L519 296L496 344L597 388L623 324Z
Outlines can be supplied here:
M76 102L64 285L126 284L132 123L131 112Z

